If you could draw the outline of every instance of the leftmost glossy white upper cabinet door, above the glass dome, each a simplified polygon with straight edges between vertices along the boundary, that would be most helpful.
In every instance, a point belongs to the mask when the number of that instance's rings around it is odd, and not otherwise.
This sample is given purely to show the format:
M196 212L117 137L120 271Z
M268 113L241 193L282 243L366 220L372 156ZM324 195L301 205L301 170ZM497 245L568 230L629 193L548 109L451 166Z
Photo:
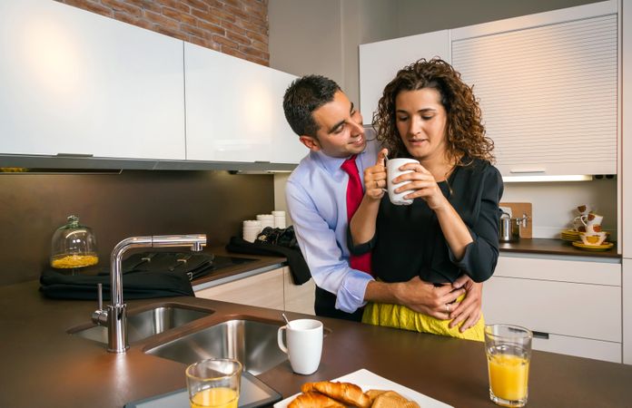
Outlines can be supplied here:
M0 153L184 159L183 42L0 0Z

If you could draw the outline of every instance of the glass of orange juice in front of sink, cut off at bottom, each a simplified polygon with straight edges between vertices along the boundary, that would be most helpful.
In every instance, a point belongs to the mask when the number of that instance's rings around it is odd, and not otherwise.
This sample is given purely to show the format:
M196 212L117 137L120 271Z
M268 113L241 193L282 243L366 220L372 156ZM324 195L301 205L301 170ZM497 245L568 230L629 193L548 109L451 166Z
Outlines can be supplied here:
M237 408L242 364L230 358L211 358L186 368L191 408Z

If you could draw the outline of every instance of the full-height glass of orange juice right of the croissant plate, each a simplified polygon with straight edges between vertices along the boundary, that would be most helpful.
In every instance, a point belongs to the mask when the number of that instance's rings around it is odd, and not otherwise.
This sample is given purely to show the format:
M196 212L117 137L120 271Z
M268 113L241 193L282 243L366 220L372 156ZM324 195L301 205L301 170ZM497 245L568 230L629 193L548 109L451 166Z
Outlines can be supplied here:
M500 406L525 406L533 334L518 325L486 325L489 398Z

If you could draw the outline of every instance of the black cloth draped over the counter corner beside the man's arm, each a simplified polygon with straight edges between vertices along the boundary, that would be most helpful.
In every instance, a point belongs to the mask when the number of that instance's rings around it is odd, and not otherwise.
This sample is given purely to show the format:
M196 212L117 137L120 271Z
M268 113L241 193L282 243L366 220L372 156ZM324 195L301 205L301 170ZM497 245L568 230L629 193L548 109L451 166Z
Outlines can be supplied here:
M242 238L232 237L226 246L226 250L240 254L280 255L287 257L294 285L302 285L311 279L310 268L307 267L307 263L298 249L280 247L261 241L248 242Z

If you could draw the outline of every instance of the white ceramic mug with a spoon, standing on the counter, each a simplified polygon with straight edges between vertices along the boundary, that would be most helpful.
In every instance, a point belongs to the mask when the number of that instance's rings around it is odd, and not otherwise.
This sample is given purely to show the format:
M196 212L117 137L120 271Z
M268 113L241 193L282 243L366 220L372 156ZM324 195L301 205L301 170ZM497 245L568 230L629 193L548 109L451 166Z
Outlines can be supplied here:
M287 346L283 343L283 331ZM288 355L296 374L312 374L321 364L322 323L313 319L292 320L277 332L279 348Z

